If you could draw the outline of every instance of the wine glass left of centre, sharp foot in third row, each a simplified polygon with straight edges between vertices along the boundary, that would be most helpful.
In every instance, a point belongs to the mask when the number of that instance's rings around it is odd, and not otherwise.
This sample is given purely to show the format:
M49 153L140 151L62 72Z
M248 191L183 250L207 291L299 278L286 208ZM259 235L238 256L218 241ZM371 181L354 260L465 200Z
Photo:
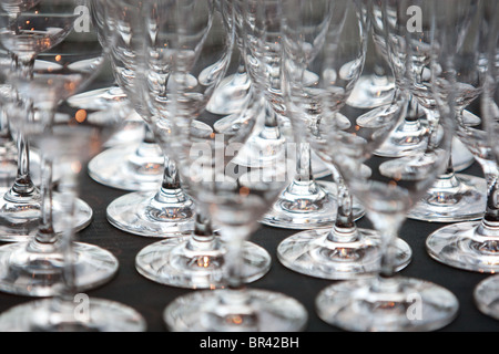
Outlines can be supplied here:
M140 29L130 28L126 11L129 9L116 8L120 4L115 1L108 1L105 6L111 7L108 11L110 19L105 23L110 27L109 31L118 39L112 51L112 64L118 84L129 100L134 100L135 111L154 133L154 140L156 140L159 137L152 126L152 114L147 107L143 106L143 103L138 102L142 97L142 92L133 91L136 88L136 85L133 85L134 50L133 43L128 42L128 37ZM211 133L204 126L198 128L207 134ZM163 148L161 145L160 147ZM113 200L106 209L111 225L125 232L149 238L176 238L192 232L195 223L195 205L182 187L179 168L170 153L162 149L164 170L159 190L134 191Z

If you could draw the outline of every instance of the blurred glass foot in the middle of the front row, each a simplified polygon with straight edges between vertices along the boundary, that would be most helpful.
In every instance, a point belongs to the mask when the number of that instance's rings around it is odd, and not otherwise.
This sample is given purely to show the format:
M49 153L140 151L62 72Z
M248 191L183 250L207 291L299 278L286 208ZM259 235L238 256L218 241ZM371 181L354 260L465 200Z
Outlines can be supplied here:
M278 292L218 289L177 298L163 319L173 332L298 332L308 314L295 299Z

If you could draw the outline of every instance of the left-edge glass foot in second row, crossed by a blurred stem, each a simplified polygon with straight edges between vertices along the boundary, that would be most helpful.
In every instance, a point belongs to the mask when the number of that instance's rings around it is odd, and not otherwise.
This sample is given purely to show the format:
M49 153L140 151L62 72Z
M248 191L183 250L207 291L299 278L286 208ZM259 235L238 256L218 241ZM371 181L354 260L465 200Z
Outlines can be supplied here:
M75 242L74 272L78 291L100 287L118 271L109 251ZM63 287L63 256L57 244L17 242L0 247L0 291L26 296L53 296Z

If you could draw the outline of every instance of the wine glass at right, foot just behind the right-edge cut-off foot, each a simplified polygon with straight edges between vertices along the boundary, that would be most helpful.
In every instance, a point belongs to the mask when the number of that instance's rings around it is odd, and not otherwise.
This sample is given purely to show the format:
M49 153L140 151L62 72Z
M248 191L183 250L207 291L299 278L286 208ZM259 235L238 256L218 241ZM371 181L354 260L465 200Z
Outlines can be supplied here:
M371 13L374 17L379 17L379 6L377 1L371 2L374 6L374 10ZM383 3L383 2L381 2ZM386 15L391 15L386 14ZM387 19L375 19L373 23L377 23L379 21L386 21ZM427 22L422 23L422 30L426 30L425 25ZM385 41L387 45L391 45L386 37L388 35L398 35L406 31L406 24L401 22L386 21L385 25L387 28L380 27L381 33L385 33ZM375 27L376 28L376 27ZM379 30L378 30L379 31ZM418 138L408 139L410 142L408 148L418 148L418 146L413 147L414 142L419 142L421 138L428 138L428 121L434 118L434 115L438 114L431 98L425 97L428 92L431 91L429 88L430 81L430 70L428 69L428 46L420 45L418 48L418 52L421 54L418 59L419 62L413 65L414 71L414 80L415 84L409 86L410 93L414 97L414 102L417 104L418 110L424 112L425 119L421 119L416 115L414 118L408 119L413 123L405 122L403 127L398 127L398 131L401 132L403 140L406 131L416 129L419 132L422 129L425 132L422 135L418 134ZM400 75L400 70L404 70L400 65L400 58L404 58L405 49L399 48L398 45L393 45L391 52L388 52L388 60L394 62L394 74L397 79L397 75ZM393 54L391 54L393 53ZM398 63L397 63L398 62ZM464 102L467 100L464 100ZM467 102L469 103L469 101ZM457 107L459 112L464 113L461 115L462 119L467 119L466 124L473 125L479 124L479 119L470 113L464 112L462 107ZM417 122L415 121L417 118ZM427 123L424 123L426 121ZM413 125L410 127L409 125ZM416 125L416 126L415 126ZM420 127L418 128L417 125ZM426 125L426 127L425 127ZM400 139L400 138L399 138ZM452 143L454 144L454 143ZM404 162L404 159L401 159ZM450 157L448 162L448 166L446 171L437 178L434 186L427 191L427 194L421 198L420 202L417 204L411 210L409 210L408 218L422 220L422 221L434 221L434 222L457 222L465 220L475 220L482 217L486 206L486 180L482 177L466 175L466 174L456 174L454 168L454 160Z

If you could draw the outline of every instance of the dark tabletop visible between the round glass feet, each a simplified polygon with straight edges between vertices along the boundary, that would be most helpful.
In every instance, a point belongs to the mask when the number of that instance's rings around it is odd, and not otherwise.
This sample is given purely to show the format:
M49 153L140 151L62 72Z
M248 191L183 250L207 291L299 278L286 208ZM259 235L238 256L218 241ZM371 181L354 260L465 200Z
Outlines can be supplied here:
M464 173L480 175L480 168L475 164ZM111 251L120 261L118 274L106 284L86 291L90 296L115 300L138 310L146 320L147 331L164 332L166 327L162 320L163 309L176 296L191 290L176 289L154 283L140 275L134 268L136 253L157 239L143 238L122 232L112 227L105 216L106 206L115 198L126 194L102 186L93 181L86 174L81 175L81 198L94 211L92 223L80 232L80 241L98 244ZM366 217L358 220L359 227L369 227ZM480 313L473 304L472 291L477 283L488 274L480 274L454 269L432 260L426 252L425 239L444 223L430 223L407 220L401 229L400 238L413 249L410 264L400 273L438 283L454 292L460 304L457 319L440 331L450 332L498 332L499 321ZM308 310L306 332L334 332L338 329L323 322L315 313L314 300L317 293L334 281L315 279L295 273L282 266L276 257L277 244L294 230L262 226L252 236L252 241L264 247L272 256L269 272L251 287L275 290L299 300ZM0 293L0 312L13 305L31 301L30 298Z

